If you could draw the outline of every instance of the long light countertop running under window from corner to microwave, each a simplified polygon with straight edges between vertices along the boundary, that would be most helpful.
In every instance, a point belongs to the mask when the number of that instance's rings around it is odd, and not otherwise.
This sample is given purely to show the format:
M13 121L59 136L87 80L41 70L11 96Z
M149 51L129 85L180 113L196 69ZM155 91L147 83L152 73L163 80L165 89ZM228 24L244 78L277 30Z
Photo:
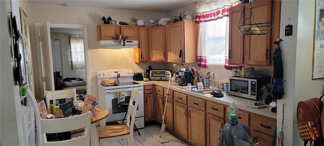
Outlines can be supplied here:
M169 83L168 81L136 81L136 82L142 83L144 86L145 85L157 85L157 86L161 86L164 88L168 88L168 83ZM185 94L188 94L188 95L191 95L194 97L204 98L206 100L214 101L214 102L221 103L221 104L228 105L228 106L231 104L232 101L234 101L235 105L238 109L242 109L244 111L248 111L248 112L262 115L265 117L269 117L272 119L277 119L277 114L271 112L271 106L269 106L269 105L268 105L268 107L261 108L261 109L251 108L251 107L247 106L247 104L253 104L254 102L256 102L255 100L240 98L240 97L226 95L226 94L224 94L224 97L216 98L209 94L203 95L203 94L199 94L199 93L194 93L192 91L188 91L181 87L186 87L186 86L179 86L179 83L174 82L174 81L172 81L170 83L170 90L185 93Z

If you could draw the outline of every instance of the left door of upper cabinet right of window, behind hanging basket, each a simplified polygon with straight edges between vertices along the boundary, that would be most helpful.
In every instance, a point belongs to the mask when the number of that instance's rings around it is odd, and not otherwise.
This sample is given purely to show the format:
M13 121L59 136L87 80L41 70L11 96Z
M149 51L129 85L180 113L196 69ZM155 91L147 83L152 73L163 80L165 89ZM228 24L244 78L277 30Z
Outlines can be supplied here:
M236 29L235 25L243 25L244 20L240 20L241 11L244 5L229 8L229 45L228 45L228 63L243 64L244 55L244 37Z

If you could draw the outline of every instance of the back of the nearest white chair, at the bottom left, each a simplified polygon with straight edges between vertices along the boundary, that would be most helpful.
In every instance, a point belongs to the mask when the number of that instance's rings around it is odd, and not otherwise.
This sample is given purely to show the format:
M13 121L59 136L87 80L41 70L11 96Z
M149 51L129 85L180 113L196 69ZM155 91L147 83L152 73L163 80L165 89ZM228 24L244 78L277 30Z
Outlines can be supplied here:
M88 111L85 114L72 117L41 119L43 145L88 145L86 143L90 143L91 116L91 112ZM47 141L46 133L60 133L80 128L85 129L83 136L61 141Z

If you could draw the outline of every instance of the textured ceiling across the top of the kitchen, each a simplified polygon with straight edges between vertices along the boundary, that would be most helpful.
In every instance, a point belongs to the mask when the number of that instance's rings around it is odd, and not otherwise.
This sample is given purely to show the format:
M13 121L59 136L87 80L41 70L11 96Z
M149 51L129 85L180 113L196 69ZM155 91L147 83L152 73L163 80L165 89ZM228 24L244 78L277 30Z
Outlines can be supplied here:
M180 8L184 5L193 3L197 0L28 0L34 4L62 5L90 8L105 8L105 9L120 9L120 10L135 10L135 11L151 11L151 12L169 12Z

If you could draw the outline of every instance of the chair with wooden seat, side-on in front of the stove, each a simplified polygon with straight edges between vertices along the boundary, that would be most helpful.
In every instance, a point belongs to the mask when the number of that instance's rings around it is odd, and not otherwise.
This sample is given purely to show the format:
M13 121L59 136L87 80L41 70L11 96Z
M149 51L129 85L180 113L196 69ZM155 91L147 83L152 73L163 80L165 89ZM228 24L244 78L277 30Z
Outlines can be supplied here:
M140 99L141 92L132 89L130 104L128 105L127 121L123 125L109 125L98 127L99 145L104 145L105 141L112 141L127 138L128 145L134 145L133 129L136 115L138 100ZM135 103L133 102L135 101ZM132 103L132 104L131 104ZM131 118L132 117L132 118Z

